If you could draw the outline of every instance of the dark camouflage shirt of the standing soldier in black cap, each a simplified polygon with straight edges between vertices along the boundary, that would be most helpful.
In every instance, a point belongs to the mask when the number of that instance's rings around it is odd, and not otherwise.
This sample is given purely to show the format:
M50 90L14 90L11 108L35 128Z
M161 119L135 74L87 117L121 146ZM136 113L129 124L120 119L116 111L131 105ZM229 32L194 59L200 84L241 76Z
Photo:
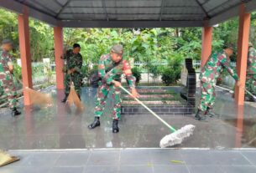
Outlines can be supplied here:
M62 59L66 60L65 69L76 69L77 73L81 72L82 56L81 53L73 53L73 50L67 50Z

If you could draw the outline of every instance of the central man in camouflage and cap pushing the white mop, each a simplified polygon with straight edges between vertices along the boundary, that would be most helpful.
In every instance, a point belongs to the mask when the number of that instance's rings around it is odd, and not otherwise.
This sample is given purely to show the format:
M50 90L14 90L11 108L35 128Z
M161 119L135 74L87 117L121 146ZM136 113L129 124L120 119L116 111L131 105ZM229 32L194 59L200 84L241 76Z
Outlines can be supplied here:
M133 77L130 65L126 60L122 59L123 46L116 44L112 47L111 53L102 55L98 64L98 76L101 78L97 89L97 100L94 109L94 121L88 126L89 129L94 129L100 125L100 117L104 109L107 94L112 93L114 105L112 107L112 133L118 133L118 120L121 114L121 91L118 88L121 86L121 75L124 74L133 97L138 97L135 89L135 78Z

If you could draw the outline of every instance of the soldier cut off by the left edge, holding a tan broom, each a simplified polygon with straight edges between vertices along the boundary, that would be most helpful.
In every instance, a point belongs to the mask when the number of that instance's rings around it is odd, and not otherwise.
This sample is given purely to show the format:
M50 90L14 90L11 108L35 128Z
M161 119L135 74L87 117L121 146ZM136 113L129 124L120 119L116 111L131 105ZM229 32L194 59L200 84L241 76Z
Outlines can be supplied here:
M9 39L3 40L0 50L0 94L8 97L8 106L12 115L21 114L17 109L17 91L13 83L13 58L9 51L13 49L13 42Z

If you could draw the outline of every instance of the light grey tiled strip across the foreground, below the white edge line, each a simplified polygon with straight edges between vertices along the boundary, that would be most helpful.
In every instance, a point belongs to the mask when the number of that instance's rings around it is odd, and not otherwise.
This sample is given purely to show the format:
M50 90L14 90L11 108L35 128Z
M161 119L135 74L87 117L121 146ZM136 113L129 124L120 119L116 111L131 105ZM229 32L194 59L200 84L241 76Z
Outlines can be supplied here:
M11 150L1 173L254 173L256 150Z

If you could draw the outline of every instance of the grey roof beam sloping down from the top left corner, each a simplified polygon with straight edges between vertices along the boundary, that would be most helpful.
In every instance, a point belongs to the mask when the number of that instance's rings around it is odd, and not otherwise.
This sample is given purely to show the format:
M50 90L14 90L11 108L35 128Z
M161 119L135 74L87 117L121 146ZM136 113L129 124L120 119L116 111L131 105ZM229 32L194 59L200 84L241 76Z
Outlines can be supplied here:
M18 3L14 0L0 0L0 7L7 8L14 13L24 13L24 7L29 8L29 17L39 19L44 23L49 23L50 25L57 26L60 21L56 18L50 16L49 14L43 13L38 9L31 8L23 3Z

